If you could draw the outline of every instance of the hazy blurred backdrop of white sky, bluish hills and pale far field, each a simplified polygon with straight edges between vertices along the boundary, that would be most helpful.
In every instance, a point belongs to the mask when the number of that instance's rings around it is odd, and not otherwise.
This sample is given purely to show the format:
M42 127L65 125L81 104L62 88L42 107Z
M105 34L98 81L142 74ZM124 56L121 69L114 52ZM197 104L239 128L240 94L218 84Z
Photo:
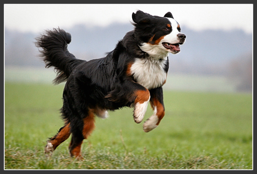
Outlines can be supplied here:
M4 4L5 82L52 82L34 43L44 30L71 33L68 50L91 60L133 30L137 10L170 11L186 35L181 52L169 55L164 89L252 92L253 4Z

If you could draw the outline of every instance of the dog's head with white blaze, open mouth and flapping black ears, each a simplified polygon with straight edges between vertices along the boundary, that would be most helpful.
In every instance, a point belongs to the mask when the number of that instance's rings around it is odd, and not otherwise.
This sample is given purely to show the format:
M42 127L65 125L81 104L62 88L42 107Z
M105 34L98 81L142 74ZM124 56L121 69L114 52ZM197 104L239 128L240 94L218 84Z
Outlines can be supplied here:
M150 56L161 58L167 53L180 52L179 46L185 42L186 36L180 32L180 26L171 12L159 17L139 10L132 14L132 19L135 39Z

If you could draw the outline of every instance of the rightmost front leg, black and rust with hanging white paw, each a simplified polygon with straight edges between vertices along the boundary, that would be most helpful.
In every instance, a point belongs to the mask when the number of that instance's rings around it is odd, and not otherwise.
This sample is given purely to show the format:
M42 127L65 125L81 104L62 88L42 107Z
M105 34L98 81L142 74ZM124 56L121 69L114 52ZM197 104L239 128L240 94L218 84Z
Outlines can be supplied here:
M145 132L149 132L150 130L156 128L165 114L162 87L151 89L150 95L150 104L154 110L154 113L143 124L143 129Z

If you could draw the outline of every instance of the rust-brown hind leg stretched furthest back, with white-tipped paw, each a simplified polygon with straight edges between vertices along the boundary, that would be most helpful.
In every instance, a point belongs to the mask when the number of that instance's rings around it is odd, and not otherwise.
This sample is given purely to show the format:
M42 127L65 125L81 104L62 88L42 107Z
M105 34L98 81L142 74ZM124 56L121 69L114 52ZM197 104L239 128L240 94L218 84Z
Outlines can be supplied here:
M63 127L59 129L58 134L56 134L54 137L50 138L47 141L45 153L52 153L57 146L59 146L62 142L69 138L70 134L70 123L66 123Z

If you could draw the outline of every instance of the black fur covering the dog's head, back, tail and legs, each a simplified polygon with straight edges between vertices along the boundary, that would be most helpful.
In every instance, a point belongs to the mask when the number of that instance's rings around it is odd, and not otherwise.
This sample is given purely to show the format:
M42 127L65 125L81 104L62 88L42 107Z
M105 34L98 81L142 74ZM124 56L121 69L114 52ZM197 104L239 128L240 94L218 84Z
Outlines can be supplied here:
M170 12L165 17L173 18ZM128 74L129 65L133 64L136 57L149 58L139 45L148 42L153 36L152 42L169 34L172 28L164 31L163 28L169 23L167 18L142 11L133 13L132 19L134 30L128 32L106 57L90 61L76 59L69 53L67 45L71 42L71 35L60 28L47 30L37 38L36 46L41 48L46 67L54 67L57 71L54 83L67 80L61 113L66 125L70 124L71 146L76 146L85 138L82 134L85 124L83 119L91 109L115 110L129 107L137 98L135 91L148 91L137 83L133 74ZM168 61L164 71L168 71ZM149 92L151 104L157 101L163 106L162 87L149 89Z

